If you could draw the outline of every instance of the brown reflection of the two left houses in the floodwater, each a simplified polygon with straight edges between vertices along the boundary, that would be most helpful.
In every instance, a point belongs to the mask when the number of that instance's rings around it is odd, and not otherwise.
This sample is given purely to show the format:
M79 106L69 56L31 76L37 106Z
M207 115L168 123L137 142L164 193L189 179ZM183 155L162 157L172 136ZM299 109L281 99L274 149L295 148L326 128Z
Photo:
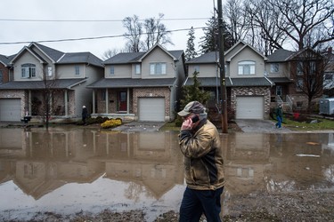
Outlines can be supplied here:
M0 182L13 180L39 199L69 182L107 178L134 181L160 197L183 184L182 157L175 134L20 129L20 144L0 140ZM19 142L18 142L19 143ZM13 144L12 144L13 145ZM10 155L11 159L8 158Z

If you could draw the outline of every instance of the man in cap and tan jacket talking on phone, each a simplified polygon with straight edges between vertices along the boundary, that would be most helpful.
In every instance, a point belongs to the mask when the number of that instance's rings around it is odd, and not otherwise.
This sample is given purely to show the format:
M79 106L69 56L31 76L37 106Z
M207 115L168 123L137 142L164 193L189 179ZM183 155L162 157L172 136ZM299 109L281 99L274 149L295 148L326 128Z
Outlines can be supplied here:
M221 221L224 160L219 133L198 101L188 103L178 115L183 117L179 145L187 184L179 221L200 221L202 213L208 222Z

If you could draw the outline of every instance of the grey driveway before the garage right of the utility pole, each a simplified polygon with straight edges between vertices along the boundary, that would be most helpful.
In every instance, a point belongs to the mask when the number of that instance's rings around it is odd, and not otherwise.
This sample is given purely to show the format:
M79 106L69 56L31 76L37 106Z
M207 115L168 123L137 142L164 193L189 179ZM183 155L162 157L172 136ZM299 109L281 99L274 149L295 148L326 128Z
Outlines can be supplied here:
M240 129L244 132L289 132L290 130L281 127L277 129L275 123L270 120L235 120L235 123L238 124Z

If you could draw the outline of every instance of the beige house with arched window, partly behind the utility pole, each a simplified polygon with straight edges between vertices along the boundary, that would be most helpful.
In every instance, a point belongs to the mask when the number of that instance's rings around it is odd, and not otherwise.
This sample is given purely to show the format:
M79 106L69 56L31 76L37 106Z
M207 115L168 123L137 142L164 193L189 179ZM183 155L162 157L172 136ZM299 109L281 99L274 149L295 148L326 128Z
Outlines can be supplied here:
M239 42L224 52L225 85L229 118L266 119L270 113L270 91L274 83L265 75L267 58L248 44ZM207 107L218 115L220 76L218 52L208 52L186 62L188 78L184 85L193 84L193 74L205 91L211 93ZM215 116L214 116L215 118Z

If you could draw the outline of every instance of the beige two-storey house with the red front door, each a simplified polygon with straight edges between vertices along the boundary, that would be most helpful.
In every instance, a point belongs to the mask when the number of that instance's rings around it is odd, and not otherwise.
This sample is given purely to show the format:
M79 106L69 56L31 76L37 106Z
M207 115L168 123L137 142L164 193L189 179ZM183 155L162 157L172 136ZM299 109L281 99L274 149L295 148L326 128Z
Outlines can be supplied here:
M183 51L159 44L148 52L119 53L103 62L104 78L93 89L93 116L125 121L171 121L185 78Z

